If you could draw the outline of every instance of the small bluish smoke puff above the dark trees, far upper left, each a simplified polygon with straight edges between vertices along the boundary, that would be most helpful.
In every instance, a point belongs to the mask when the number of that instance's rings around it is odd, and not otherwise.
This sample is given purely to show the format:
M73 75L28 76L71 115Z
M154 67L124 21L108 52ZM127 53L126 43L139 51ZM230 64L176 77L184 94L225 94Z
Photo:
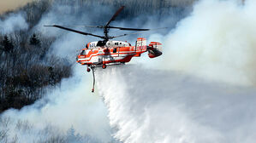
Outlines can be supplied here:
M0 33L9 34L17 30L27 30L28 24L23 14L9 14L5 20L0 19Z

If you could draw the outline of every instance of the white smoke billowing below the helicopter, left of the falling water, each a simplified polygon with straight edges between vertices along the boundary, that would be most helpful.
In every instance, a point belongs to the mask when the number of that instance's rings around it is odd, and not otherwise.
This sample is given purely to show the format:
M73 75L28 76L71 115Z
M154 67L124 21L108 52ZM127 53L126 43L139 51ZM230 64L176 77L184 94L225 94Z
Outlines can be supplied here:
M107 111L100 97L90 93L90 83L84 68L75 66L74 77L64 79L60 88L50 90L44 99L22 108L21 111L4 112L1 117L10 118L11 121L7 127L9 139L18 136L19 142L33 142L40 140L39 135L42 135L45 140L51 132L51 135L63 134L73 128L75 134L89 135L100 142L110 141ZM19 122L32 125L29 134L16 129ZM48 126L52 126L54 131L51 130L47 136L41 132Z

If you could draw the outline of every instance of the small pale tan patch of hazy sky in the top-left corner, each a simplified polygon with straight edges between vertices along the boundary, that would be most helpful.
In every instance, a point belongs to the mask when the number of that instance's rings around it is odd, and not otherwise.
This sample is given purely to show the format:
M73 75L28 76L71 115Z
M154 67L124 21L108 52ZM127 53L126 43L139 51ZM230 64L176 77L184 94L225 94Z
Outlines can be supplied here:
M33 0L0 0L0 14L7 10L15 9Z

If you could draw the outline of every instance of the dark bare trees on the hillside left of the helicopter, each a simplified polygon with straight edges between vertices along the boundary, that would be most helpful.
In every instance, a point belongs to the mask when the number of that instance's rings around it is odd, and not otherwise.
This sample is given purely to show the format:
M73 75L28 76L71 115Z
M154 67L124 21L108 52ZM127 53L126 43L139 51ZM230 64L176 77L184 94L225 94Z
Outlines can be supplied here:
M54 37L26 37L26 31L0 36L0 112L32 104L72 74L70 61L47 55Z

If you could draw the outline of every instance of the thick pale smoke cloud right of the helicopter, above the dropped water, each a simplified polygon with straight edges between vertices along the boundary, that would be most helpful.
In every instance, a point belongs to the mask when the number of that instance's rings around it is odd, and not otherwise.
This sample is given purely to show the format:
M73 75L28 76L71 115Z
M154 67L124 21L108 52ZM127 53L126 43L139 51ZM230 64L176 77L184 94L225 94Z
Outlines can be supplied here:
M165 67L240 85L255 84L255 2L201 1L165 38Z

